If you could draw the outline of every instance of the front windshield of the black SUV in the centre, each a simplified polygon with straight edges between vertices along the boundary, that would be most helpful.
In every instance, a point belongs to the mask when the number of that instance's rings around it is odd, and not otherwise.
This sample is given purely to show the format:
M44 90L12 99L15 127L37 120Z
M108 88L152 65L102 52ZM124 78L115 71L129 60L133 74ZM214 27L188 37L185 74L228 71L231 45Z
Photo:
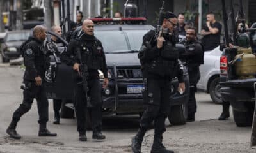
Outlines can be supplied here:
M95 36L102 42L105 53L125 53L138 51L147 32L148 30L95 31Z

